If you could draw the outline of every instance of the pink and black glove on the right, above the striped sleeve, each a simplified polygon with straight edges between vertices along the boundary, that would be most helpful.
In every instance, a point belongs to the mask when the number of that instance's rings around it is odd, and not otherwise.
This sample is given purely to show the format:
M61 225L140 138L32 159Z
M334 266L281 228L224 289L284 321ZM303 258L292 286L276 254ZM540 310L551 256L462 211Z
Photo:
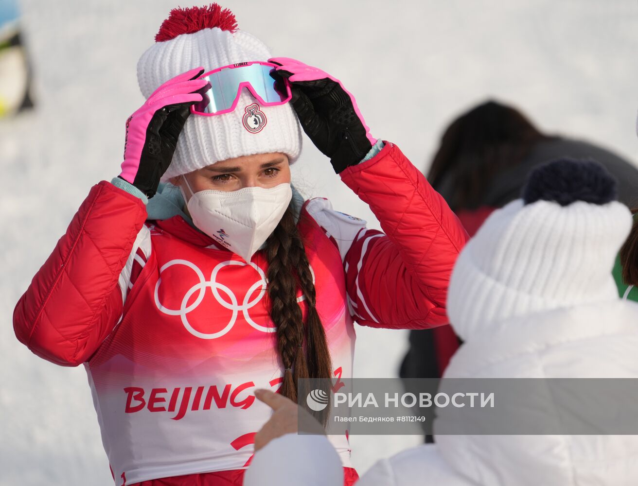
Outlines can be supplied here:
M315 146L330 158L334 172L357 165L376 140L370 135L352 94L339 80L318 68L288 57L268 61L281 66L271 75L275 79L277 75L288 78L290 103L299 122Z

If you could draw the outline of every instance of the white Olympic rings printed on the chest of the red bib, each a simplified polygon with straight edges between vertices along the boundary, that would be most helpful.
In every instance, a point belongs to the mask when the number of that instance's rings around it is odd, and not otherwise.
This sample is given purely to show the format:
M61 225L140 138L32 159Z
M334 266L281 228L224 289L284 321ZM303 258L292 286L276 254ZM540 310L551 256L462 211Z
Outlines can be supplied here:
M197 275L199 279L199 283L193 285L191 288L189 288L188 291L186 291L186 293L184 293L184 297L182 298L182 303L179 309L168 309L168 307L164 307L161 304L161 302L159 302L159 285L161 284L161 279L162 279L161 274L162 272L164 272L164 270L168 269L169 267L172 267L173 265L185 265L189 269L193 270L193 272L195 272L195 274ZM224 267L228 267L229 265L239 265L242 267L249 265L250 267L253 267L253 269L256 270L259 276L259 279L255 281L255 283L253 283L248 288L248 291L246 291L246 295L244 295L244 298L241 304L239 304L239 299L237 298L235 293L228 286L222 283L219 283L217 280L219 270L223 269ZM312 268L310 269L310 271L313 276L313 282L314 282L315 272L313 272ZM276 332L277 330L276 327L265 327L256 323L255 321L253 321L253 319L250 317L250 314L248 313L249 309L255 307L258 304L258 302L262 300L263 295L266 293L266 287L268 284L268 281L266 279L265 274L263 273L263 270L260 267L258 267L258 265L256 265L255 263L252 263L252 262L246 263L244 261L238 261L238 260L222 261L221 263L218 263L218 265L216 265L216 267L212 270L211 279L207 281L204 277L204 273L202 272L202 270L200 270L197 267L197 265L195 265L191 261L182 260L178 258L175 260L170 260L164 265L162 265L161 268L159 269L159 275L160 277L157 283L155 284L155 292L154 292L155 304L158 307L159 311L169 316L179 316L186 330L188 330L188 332L193 334L194 336L199 337L200 339L216 339L218 337L221 337L227 334L235 325L235 322L237 321L237 316L239 316L240 311L243 314L246 322L248 322L248 324L251 325L256 330L261 332ZM217 302L221 306L225 307L229 311L232 311L228 324L226 324L226 327L224 327L222 330L218 332L212 332L212 333L200 332L197 329L195 329L191 325L191 323L189 323L188 321L188 313L195 310L202 303L202 301L204 300L207 288L211 289L213 297L215 298L215 300L217 300ZM257 293L255 297L251 299L250 298L251 295L253 295L253 293L255 293L257 290L259 292ZM191 304L190 306L187 306L186 304L188 303L189 298L191 298L191 296L195 292L198 292L195 302L193 302L193 304ZM220 292L225 294L228 300L226 300L226 298L223 298ZM304 300L303 295L301 297L297 297L297 302L301 302L302 300Z

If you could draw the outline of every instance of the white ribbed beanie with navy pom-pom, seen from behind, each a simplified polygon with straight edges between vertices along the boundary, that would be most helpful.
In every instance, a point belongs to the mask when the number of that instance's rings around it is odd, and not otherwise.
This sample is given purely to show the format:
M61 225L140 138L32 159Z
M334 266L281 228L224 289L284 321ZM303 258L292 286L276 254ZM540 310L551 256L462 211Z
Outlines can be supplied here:
M616 181L593 161L530 174L523 199L489 216L459 255L447 313L464 340L505 319L618 298L612 267L632 225Z

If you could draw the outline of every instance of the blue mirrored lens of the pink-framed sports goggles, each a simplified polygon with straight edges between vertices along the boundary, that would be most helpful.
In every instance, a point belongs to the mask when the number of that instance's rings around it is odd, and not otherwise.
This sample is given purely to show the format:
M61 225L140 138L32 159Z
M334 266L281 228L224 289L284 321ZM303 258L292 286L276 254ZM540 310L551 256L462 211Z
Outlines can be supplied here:
M274 71L272 66L248 64L225 68L207 75L203 78L208 80L210 86L206 85L200 91L204 99L196 103L193 108L200 113L229 110L239 96L239 85L242 83L250 84L264 103L283 103L288 98L288 93L278 90L278 87L283 87L283 84L276 83L271 77L272 71Z

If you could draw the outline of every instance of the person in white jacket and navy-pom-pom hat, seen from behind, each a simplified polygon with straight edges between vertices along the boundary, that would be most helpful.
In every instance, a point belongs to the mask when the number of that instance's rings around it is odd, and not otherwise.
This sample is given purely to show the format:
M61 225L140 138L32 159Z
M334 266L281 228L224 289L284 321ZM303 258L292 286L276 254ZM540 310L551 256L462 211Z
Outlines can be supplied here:
M531 173L523 197L487 219L452 273L447 309L464 344L443 379L638 378L638 304L618 297L611 274L632 217L615 198L616 181L602 166L565 159ZM445 409L439 412L434 432L450 425ZM550 403L535 412L561 420ZM262 458L276 468L279 448L290 450L291 443L297 463L338 468L311 444L321 436L268 441L283 429L262 429L267 445L256 453L246 486L257 484L249 482L256 475L270 484L263 479L275 469L263 469ZM435 441L378 461L357 486L638 482L635 435L435 434ZM324 482L328 476L300 473L272 484L334 484Z

